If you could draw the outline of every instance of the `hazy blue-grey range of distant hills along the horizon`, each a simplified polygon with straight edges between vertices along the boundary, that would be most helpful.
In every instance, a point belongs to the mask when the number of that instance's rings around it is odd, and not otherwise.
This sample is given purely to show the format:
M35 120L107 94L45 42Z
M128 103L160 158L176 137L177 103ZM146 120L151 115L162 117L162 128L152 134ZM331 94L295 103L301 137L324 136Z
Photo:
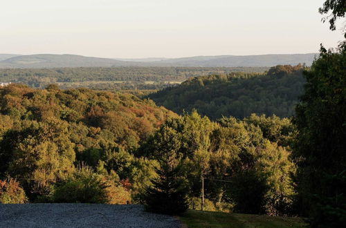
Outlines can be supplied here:
M192 67L237 67L276 66L307 64L310 66L317 54L293 55L218 55L176 59L106 59L82 55L10 55L0 54L0 68L57 68L57 67L117 67L117 66L192 66ZM131 61L130 61L131 60Z

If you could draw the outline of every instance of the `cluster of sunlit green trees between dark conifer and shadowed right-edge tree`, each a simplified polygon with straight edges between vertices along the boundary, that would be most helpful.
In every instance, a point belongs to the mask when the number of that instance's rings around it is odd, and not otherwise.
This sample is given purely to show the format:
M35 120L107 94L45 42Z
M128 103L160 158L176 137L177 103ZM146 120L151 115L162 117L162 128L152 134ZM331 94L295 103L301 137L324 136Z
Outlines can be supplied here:
M262 133L260 126L268 133ZM163 154L176 153L181 158L181 177L185 178L190 187L189 197L193 199L201 196L203 175L206 178L206 198L215 208L217 205L229 205L235 197L234 192L230 191L233 189L230 182L217 180L233 181L239 175L261 180L264 186L262 195L253 193L254 197L262 200L257 213L287 215L291 212L295 194L291 178L295 167L289 158L289 146L283 142L291 141L294 131L289 119L275 116L253 115L244 121L224 117L215 124L208 117L201 117L193 111L181 118L167 120L138 148L136 154L160 160ZM278 142L282 142L284 147L277 146ZM253 189L256 189L258 183L254 184ZM235 191L241 189L241 186L239 184ZM237 198L248 197L245 188L239 190L243 196L237 195ZM193 204L190 207L194 207ZM248 207L245 205L244 211Z

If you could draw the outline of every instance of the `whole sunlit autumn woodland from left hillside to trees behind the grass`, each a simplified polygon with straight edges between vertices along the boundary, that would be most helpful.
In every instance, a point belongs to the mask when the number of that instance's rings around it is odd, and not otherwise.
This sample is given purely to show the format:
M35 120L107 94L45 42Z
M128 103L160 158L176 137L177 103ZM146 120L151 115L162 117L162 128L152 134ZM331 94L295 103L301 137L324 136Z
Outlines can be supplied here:
M1 202L143 202L173 154L190 207L201 204L203 176L205 209L291 213L289 119L212 122L133 95L54 85L11 84L0 95Z

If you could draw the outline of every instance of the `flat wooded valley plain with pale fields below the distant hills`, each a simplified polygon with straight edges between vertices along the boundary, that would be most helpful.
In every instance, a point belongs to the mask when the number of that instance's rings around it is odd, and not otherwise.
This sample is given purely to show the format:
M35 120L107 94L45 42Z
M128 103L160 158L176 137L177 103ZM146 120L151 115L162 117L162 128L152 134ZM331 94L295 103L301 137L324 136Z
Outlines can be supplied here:
M34 88L60 84L62 88L80 86L96 89L165 88L165 82L185 81L190 77L230 72L264 72L265 67L95 67L0 69L0 82L22 83ZM83 84L79 84L83 82ZM88 83L89 82L89 83ZM111 82L123 82L112 84ZM150 82L151 84L145 84Z

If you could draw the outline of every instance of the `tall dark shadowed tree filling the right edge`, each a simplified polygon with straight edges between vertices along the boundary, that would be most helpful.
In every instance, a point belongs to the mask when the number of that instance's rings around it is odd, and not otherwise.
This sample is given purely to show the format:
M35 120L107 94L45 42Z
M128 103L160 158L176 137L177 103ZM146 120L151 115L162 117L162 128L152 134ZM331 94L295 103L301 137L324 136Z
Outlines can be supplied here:
M300 209L316 227L342 227L346 221L346 48L321 48L296 107L299 131L294 149L298 162Z

